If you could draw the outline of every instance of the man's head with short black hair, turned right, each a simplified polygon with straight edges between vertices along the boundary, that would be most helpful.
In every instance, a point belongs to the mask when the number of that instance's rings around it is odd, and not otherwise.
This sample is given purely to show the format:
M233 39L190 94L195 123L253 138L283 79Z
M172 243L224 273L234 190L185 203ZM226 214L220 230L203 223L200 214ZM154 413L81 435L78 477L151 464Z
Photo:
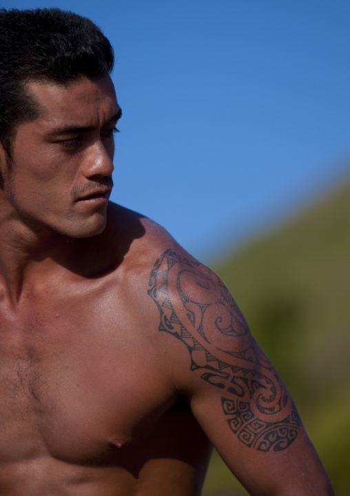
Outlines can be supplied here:
M89 19L59 9L0 10L7 219L69 237L102 232L121 115L113 60L110 42Z

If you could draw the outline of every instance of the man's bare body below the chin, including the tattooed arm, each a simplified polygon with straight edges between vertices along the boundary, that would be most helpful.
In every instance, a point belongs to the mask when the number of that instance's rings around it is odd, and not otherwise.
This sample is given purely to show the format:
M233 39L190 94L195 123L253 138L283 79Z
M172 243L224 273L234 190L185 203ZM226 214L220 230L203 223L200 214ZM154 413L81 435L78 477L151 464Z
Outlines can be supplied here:
M0 496L200 496L208 438L251 495L333 496L222 281L108 218L35 252L16 299L0 276Z

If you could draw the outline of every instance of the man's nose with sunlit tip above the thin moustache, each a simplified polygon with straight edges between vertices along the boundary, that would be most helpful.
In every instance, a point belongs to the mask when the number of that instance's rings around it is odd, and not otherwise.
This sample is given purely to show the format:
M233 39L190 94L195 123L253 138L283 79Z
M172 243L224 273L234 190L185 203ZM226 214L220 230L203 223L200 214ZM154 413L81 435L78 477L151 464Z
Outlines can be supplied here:
M110 176L114 170L113 154L107 152L101 140L96 141L85 150L83 158L83 175L88 179L94 176Z

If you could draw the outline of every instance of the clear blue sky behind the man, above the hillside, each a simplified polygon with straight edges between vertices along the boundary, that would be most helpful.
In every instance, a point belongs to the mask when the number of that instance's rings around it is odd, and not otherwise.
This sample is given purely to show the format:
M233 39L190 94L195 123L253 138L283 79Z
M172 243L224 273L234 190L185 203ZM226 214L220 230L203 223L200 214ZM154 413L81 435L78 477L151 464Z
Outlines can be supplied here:
M215 258L350 176L348 0L4 0L114 46L117 203Z

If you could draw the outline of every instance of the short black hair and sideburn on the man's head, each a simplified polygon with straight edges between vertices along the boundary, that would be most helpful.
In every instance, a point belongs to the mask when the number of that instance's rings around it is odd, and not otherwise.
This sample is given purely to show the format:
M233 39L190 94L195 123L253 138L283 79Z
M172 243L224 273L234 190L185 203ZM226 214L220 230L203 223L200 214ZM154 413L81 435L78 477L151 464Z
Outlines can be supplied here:
M18 124L38 117L26 82L99 79L113 63L110 41L86 17L58 8L0 9L0 143L8 158Z

